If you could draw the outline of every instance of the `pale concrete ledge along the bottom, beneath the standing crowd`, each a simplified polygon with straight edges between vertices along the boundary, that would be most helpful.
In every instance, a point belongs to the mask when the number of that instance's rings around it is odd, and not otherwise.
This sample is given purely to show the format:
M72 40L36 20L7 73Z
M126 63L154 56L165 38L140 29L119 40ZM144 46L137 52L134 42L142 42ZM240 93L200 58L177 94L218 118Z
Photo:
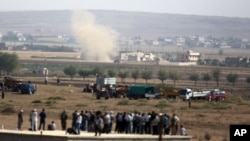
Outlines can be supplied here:
M102 134L94 136L94 133L81 133L81 135L65 135L63 131L0 131L1 141L157 141L159 136L136 134ZM191 141L190 136L162 136L162 141Z

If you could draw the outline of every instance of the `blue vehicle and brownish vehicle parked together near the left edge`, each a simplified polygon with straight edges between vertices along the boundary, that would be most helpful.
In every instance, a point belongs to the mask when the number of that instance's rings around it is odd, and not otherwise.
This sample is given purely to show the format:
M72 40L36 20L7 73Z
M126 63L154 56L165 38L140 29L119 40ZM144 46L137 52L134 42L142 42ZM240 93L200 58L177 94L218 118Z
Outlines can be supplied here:
M21 94L34 94L36 87L31 82L23 82L9 76L4 77L0 88L6 91L20 92Z

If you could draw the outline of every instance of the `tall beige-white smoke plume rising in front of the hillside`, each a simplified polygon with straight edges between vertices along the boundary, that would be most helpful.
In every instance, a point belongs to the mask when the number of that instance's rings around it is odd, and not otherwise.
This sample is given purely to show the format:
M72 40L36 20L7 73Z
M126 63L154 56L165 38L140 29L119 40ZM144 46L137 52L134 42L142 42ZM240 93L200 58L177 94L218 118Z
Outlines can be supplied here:
M80 44L82 59L108 62L117 55L118 33L109 27L97 24L90 12L73 11L72 28Z

